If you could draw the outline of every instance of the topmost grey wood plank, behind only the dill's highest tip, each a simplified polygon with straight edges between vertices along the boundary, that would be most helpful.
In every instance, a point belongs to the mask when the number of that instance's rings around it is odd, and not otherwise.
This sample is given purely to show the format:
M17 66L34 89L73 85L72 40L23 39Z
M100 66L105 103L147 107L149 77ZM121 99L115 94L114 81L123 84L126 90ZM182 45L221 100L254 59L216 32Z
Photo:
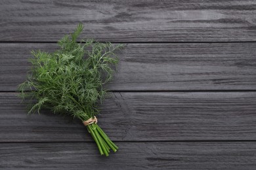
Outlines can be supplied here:
M256 1L0 2L0 41L57 41L82 22L99 41L256 41Z

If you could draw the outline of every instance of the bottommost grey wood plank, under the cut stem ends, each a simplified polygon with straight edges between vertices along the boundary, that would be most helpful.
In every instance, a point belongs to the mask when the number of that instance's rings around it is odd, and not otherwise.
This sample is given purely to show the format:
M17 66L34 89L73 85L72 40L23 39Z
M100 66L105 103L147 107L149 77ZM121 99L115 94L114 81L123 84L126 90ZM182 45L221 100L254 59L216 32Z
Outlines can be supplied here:
M100 156L94 143L0 145L3 169L256 169L256 143L117 143Z

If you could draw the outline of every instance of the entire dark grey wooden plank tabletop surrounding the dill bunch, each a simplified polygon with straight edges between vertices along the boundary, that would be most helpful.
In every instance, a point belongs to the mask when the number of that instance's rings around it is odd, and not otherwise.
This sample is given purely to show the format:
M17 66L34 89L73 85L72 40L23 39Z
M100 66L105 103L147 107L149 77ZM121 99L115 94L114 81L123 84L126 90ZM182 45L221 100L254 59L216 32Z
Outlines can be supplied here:
M0 1L0 169L256 169L256 1ZM100 126L26 114L33 49L81 37L125 49Z

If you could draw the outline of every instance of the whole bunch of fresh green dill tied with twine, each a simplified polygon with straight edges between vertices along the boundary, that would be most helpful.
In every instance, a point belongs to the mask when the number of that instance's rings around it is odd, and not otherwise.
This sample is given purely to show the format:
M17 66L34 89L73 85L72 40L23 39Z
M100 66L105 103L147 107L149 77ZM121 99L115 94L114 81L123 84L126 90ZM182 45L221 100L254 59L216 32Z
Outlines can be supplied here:
M79 118L100 154L108 156L110 148L116 152L117 146L96 124L95 115L107 92L102 86L111 80L112 67L117 63L114 52L121 44L114 46L93 40L78 43L82 30L83 25L79 24L74 33L58 41L60 49L53 53L32 51L32 70L18 88L23 99L32 101L29 113L47 108Z

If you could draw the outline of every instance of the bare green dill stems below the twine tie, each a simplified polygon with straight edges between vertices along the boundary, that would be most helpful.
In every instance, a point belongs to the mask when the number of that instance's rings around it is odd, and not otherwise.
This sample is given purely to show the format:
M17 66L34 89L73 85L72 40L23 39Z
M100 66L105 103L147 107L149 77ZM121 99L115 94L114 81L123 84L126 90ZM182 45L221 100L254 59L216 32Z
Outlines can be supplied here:
M93 139L95 140L95 143L98 146L98 150L100 152L101 155L105 155L108 156L108 153L110 152L110 148L116 152L118 147L116 146L116 144L114 144L106 135L106 133L104 133L104 131L102 131L102 129L95 123L93 124L89 124L87 126L87 129L89 131L89 133L91 133Z

